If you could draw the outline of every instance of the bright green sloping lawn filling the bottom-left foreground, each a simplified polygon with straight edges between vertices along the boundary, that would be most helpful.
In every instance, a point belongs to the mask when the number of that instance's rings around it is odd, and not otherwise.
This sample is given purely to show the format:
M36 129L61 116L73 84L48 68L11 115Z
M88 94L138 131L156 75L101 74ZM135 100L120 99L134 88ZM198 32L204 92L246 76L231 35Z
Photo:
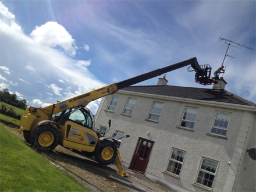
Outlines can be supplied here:
M88 191L0 125L0 191Z

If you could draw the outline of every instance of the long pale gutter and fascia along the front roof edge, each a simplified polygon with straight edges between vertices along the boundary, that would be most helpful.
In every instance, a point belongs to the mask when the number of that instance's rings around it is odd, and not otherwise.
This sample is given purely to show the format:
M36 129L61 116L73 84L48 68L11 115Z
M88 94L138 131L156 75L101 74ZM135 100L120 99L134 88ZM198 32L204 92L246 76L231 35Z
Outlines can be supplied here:
M238 110L250 111L250 112L254 112L254 113L256 112L255 106L248 106L248 105L228 104L225 102L204 101L204 100L199 100L199 99L189 99L189 98L173 97L173 96L166 96L166 95L156 95L156 94L149 94L149 93L138 93L138 92L134 92L134 91L119 90L118 93L137 95L137 96L149 97L149 98L157 98L157 99L167 99L170 101L187 102L190 104L200 103L201 105L218 106L221 108L229 108L229 109L238 109Z

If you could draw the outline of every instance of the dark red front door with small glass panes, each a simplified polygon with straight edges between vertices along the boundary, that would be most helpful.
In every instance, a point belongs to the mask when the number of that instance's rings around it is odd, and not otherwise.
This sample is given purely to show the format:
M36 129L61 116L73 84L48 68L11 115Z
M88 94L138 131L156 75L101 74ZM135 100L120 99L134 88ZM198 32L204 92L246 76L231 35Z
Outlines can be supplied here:
M138 170L142 174L145 173L153 144L154 141L150 141L145 138L139 138L130 169Z

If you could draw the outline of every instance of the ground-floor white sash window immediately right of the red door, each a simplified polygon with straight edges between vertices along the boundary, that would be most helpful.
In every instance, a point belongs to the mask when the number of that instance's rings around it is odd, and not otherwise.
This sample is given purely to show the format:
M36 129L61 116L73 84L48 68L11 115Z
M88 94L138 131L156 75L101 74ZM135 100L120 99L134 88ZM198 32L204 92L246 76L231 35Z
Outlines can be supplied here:
M173 149L166 171L179 176L186 152Z

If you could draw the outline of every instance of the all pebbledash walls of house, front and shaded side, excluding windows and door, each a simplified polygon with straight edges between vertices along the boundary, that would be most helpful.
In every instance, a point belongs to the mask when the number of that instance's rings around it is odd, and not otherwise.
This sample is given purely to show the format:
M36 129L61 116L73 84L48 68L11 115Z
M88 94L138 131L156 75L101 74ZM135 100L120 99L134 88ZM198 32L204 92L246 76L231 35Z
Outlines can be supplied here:
M113 112L108 106L113 97L118 102ZM131 116L123 114L129 98L136 99ZM154 102L163 107L157 123L148 121ZM179 127L186 107L198 108L194 129ZM217 112L230 114L226 138L212 136L211 127ZM123 165L129 168L138 138L154 141L145 176L174 191L255 191L255 161L247 149L255 147L255 107L167 97L163 95L118 91L102 98L95 116L95 128L106 127L112 120L115 131L130 134L123 138L120 153ZM147 135L147 131L149 134ZM172 149L185 151L179 176L166 172ZM201 159L218 162L211 189L196 183Z

